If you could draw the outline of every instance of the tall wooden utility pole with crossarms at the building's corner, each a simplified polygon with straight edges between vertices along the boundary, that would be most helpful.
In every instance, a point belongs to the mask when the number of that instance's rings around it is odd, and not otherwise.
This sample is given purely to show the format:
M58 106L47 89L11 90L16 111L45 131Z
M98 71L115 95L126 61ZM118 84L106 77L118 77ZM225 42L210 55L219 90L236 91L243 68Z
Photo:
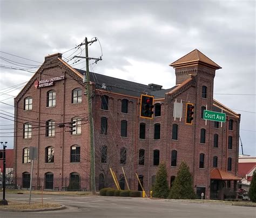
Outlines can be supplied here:
M83 82L86 83L86 89L87 89L87 99L88 99L88 109L89 109L89 123L90 123L90 156L91 156L91 170L90 170L90 183L91 183L91 192L92 194L96 194L96 182L95 182L95 145L94 145L94 136L93 136L93 119L92 119L92 100L91 100L91 88L90 88L90 74L89 74L89 60L102 60L102 57L100 58L89 58L88 55L88 44L92 44L97 39L93 39L91 41L87 41L87 37L85 37L85 43L82 43L81 45L85 45L85 57L81 56L75 56L75 58L85 58L86 62L86 75L83 75Z

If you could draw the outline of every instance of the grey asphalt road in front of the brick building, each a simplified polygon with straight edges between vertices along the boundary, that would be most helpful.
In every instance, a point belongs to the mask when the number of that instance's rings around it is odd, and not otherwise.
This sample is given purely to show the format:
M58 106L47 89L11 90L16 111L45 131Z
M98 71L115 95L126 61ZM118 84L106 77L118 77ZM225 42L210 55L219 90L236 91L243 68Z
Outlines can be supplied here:
M29 195L9 194L7 200L28 201ZM41 202L40 195L32 195L32 202ZM103 196L60 196L44 195L44 202L59 202L67 209L51 212L0 212L1 218L24 217L225 217L255 218L255 207L221 205L216 203L191 203L182 201L151 200L142 198L122 198Z

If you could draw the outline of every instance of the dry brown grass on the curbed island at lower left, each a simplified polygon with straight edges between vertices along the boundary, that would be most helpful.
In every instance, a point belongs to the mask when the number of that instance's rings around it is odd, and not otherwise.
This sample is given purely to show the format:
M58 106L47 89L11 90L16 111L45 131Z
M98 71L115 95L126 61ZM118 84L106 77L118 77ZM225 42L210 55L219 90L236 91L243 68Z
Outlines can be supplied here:
M18 201L8 201L8 205L1 205L0 209L42 209L42 208L56 208L60 207L59 203L43 203L42 202L18 202Z

